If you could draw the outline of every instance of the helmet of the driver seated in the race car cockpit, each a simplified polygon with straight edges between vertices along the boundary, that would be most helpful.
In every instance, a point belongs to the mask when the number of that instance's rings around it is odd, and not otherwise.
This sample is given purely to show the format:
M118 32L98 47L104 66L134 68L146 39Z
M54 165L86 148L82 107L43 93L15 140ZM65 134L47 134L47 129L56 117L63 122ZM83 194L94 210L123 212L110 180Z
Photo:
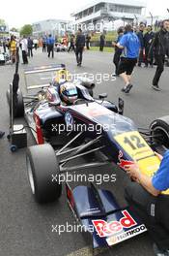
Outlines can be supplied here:
M65 103L72 104L78 98L76 86L71 82L61 84L60 97Z

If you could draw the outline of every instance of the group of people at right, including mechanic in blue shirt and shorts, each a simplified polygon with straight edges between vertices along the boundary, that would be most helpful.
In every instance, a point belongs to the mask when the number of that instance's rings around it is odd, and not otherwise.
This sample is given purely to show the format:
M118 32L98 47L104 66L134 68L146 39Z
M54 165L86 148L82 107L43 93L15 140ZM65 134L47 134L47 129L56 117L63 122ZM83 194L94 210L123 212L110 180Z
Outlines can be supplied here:
M125 28L118 30L117 41L112 45L115 47L114 76L120 76L124 80L123 92L128 93L133 86L131 75L135 65L142 67L143 63L146 68L156 65L152 87L156 91L160 90L158 82L164 70L165 57L169 57L169 20L163 20L156 33L153 32L152 26L146 28L143 23L138 30L127 24Z

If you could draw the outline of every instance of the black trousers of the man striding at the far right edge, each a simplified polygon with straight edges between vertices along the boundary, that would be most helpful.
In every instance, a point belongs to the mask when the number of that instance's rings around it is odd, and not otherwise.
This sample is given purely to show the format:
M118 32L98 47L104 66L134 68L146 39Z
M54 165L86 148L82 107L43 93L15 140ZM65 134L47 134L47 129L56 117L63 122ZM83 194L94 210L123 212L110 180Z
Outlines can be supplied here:
M157 65L157 67L156 67L156 72L155 72L155 78L153 80L154 85L158 84L161 74L164 71L164 61L165 61L164 55L155 55L155 63Z

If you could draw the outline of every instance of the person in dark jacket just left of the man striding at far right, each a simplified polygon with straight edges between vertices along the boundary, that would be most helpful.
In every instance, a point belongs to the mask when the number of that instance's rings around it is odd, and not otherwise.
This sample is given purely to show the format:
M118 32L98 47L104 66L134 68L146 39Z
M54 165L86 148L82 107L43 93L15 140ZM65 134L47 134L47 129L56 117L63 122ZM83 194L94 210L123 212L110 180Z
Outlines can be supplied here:
M150 64L153 67L153 62L154 62L154 53L153 50L151 51L150 54L150 61L148 60L148 54L149 50L151 47L151 44L153 42L153 39L155 37L155 33L153 32L152 26L147 27L147 33L144 35L144 46L145 46L145 67L148 67Z

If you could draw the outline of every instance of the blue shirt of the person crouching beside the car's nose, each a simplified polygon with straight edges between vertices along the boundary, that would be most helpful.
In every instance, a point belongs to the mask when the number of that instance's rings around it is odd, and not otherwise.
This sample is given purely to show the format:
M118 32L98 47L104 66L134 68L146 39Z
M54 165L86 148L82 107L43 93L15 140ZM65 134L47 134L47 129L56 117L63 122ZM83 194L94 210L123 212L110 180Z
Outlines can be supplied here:
M165 191L169 188L169 150L165 152L152 182L155 189L159 191Z

